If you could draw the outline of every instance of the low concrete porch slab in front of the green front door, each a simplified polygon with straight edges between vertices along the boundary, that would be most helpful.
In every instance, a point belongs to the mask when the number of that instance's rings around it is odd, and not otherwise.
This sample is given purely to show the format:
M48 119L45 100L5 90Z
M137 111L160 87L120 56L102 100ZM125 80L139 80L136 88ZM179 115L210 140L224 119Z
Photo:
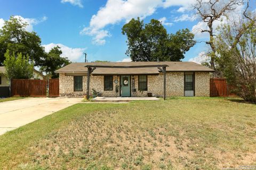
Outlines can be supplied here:
M95 97L93 101L100 102L128 102L134 100L159 100L156 97Z

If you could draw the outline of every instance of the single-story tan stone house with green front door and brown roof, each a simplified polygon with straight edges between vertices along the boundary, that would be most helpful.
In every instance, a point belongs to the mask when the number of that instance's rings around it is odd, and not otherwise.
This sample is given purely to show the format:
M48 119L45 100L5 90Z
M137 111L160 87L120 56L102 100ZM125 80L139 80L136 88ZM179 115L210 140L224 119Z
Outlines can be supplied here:
M104 97L171 97L209 96L213 70L194 62L91 62L55 72L60 96L83 97L94 90Z

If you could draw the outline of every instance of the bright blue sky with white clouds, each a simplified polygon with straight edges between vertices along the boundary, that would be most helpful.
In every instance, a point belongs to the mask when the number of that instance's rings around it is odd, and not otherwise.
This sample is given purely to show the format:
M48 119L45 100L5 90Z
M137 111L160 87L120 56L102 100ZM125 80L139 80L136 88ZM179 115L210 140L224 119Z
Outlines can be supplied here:
M10 16L20 17L42 40L46 52L59 45L62 56L73 62L87 60L130 61L125 55L127 37L122 27L132 18L140 17L145 23L151 19L162 22L168 33L188 28L195 40L202 41L185 54L182 61L200 63L209 49L205 28L191 8L195 0L0 0L0 28ZM251 1L255 10L256 0ZM237 13L244 6L237 8ZM220 22L214 23L217 27Z

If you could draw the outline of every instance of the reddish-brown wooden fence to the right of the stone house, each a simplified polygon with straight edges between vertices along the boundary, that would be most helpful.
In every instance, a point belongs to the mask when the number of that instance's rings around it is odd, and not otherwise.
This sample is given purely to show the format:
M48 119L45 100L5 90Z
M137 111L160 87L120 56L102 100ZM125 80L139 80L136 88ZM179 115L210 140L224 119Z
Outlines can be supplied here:
M211 97L228 97L235 96L230 92L231 87L228 86L227 80L223 78L210 79L210 96Z

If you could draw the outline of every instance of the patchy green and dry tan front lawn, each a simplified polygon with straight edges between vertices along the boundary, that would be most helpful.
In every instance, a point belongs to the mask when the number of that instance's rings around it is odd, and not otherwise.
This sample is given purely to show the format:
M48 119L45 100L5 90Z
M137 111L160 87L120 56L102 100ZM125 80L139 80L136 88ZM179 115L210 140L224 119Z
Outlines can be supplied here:
M256 165L256 105L228 98L76 104L0 136L0 169Z

